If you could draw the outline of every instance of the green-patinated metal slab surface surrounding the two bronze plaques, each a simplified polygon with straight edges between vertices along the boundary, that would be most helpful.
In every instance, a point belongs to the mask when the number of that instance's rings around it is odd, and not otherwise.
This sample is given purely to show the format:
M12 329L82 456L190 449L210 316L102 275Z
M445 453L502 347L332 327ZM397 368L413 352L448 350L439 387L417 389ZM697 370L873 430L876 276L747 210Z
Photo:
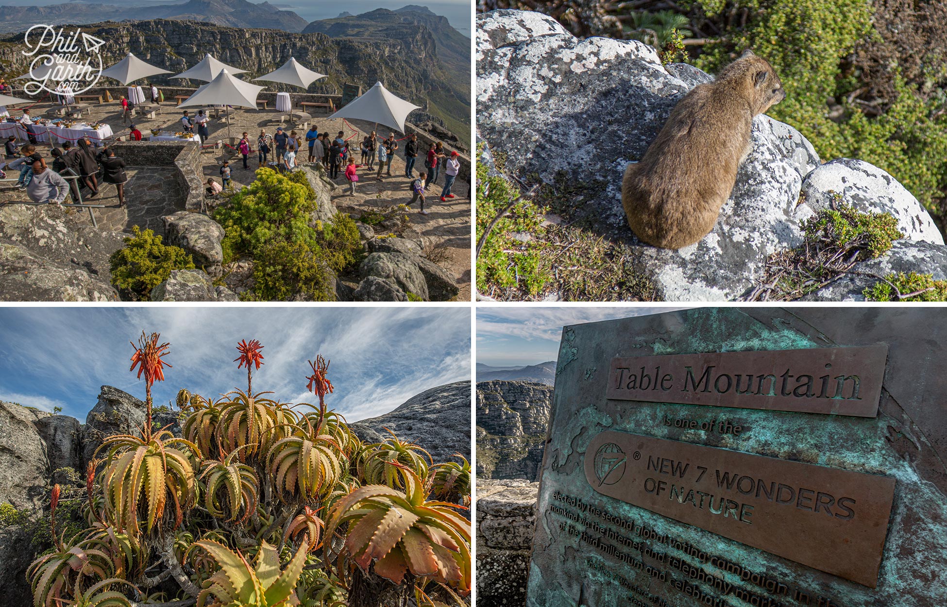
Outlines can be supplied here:
M837 322L846 322L846 313L840 310ZM785 310L759 312L757 309L754 316L733 308L703 309L579 325L563 331L562 351L567 358L564 363L563 358L560 359L557 369L551 440L546 447L539 524L528 583L529 607L575 607L581 595L588 605L596 606L634 604L630 598L646 605L658 604L649 602L631 586L663 598L669 607L705 604L652 579L643 571L617 562L577 536L568 535L561 526L580 530L586 527L550 510L556 503L552 499L556 493L595 504L635 525L651 528L658 534L670 534L707 553L738 562L747 570L782 580L812 596L812 605L817 604L815 597L820 596L831 598L841 607L947 605L947 583L941 581L944 563L947 563L947 497L920 475L915 461L922 454L930 455L934 449L923 433L912 427L910 420L902 422L884 412L899 408L886 393L877 419L688 404L609 402L604 398L607 374L587 372L589 368L607 368L614 356L864 345L854 337L851 343L829 343L819 328L800 330L798 319ZM569 366L573 360L580 359L582 368ZM681 418L729 420L739 423L743 432L740 436L721 435L666 423L666 420ZM699 527L600 495L585 481L582 460L591 438L606 428L895 478L895 503L878 588L835 578ZM916 450L917 455L900 455L892 448L895 441L902 441L907 449ZM656 547L688 560L670 546ZM688 562L700 565L693 559ZM706 568L759 596L774 598L785 607L806 604L768 594L736 574ZM678 579L682 577L679 571L671 573L677 574ZM625 585L616 580L619 576L624 578ZM688 581L693 583L693 580ZM585 582L584 588L582 582ZM715 595L721 596L719 592ZM724 597L724 601L730 607L752 605L733 595Z

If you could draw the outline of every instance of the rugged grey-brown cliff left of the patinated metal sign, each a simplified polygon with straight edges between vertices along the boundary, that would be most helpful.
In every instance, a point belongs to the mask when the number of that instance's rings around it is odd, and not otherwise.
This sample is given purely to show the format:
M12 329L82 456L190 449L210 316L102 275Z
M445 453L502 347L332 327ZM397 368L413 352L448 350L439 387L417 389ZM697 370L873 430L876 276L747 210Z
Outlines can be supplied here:
M551 385L478 382L477 477L538 479L551 406Z

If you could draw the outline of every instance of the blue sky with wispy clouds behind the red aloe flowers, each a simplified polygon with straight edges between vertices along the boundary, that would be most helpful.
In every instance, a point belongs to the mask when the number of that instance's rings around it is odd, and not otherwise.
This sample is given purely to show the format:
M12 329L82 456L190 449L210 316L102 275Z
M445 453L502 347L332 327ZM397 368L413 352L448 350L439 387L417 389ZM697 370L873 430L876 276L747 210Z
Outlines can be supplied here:
M254 388L284 402L307 397L307 360L331 361L335 386L327 398L349 421L384 414L441 384L470 380L467 308L0 308L0 400L85 420L101 385L143 399L129 372L142 330L170 342L164 383L155 404L187 387L205 397L246 388L237 343L259 339L263 363Z

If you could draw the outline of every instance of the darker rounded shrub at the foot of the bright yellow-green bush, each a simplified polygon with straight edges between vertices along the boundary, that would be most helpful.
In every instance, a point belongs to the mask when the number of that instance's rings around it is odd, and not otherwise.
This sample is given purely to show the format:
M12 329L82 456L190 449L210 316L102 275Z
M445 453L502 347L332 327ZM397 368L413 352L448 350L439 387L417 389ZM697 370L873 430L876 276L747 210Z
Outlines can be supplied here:
M314 301L335 301L327 257L305 242L275 241L265 247L253 270L248 301L286 301L303 295Z

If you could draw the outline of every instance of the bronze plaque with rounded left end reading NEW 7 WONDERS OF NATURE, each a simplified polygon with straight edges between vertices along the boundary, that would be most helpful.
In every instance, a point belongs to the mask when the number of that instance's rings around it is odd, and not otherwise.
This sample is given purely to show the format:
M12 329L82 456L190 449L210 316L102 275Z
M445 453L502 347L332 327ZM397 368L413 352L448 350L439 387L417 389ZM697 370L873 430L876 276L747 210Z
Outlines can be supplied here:
M604 495L874 588L893 478L612 430L585 478Z

